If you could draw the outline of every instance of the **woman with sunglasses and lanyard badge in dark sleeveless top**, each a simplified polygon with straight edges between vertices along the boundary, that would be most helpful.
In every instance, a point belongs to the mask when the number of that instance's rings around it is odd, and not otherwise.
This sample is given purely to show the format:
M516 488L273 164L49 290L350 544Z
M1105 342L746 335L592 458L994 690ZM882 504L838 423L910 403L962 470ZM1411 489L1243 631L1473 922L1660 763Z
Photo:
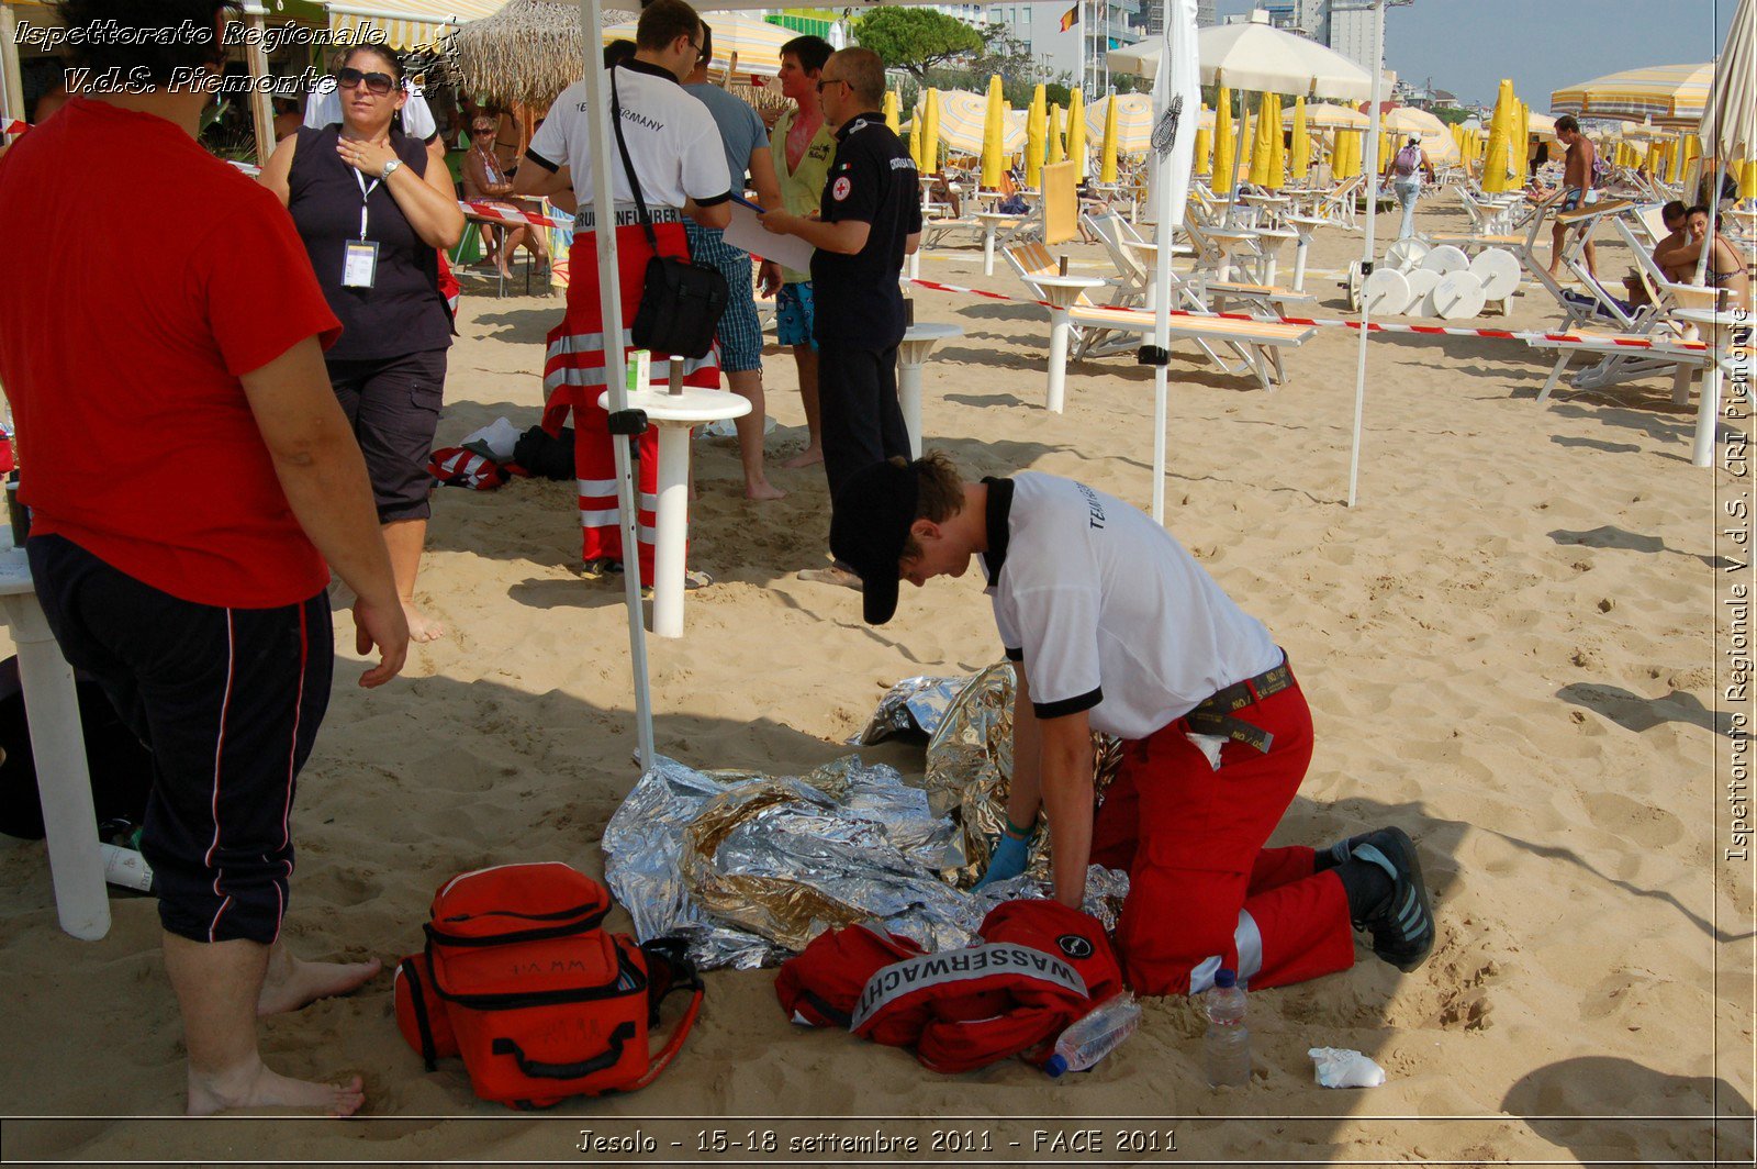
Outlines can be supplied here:
M348 49L336 70L341 125L285 139L262 183L286 204L343 334L330 383L365 454L409 640L439 622L415 606L432 478L427 459L445 390L452 311L439 251L464 234L452 176L394 120L408 95L383 46Z

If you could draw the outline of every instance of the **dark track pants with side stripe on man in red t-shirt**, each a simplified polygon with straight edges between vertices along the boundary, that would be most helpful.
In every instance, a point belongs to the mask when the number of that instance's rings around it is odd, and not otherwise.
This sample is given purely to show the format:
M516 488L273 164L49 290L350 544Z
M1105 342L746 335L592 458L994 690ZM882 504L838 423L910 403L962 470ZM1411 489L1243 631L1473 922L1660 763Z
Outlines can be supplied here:
M61 536L32 536L26 550L61 654L97 677L153 754L141 853L165 930L274 942L293 874L293 788L329 707L329 594L216 608Z

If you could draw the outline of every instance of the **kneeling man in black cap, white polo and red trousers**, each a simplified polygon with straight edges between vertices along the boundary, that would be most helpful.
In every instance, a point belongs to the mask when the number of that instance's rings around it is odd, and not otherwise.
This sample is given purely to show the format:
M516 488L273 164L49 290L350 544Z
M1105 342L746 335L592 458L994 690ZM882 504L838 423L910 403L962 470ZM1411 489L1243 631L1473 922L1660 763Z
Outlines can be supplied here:
M1047 812L1056 900L1081 905L1088 863L1128 870L1116 940L1137 991L1195 995L1221 969L1254 986L1346 970L1351 921L1392 965L1427 960L1434 914L1402 830L1263 847L1311 761L1311 712L1262 622L1147 515L1035 471L965 483L933 452L852 476L829 547L859 573L870 624L896 612L900 580L982 557L1017 666L1009 824L984 882L1024 870ZM1124 740L1096 816L1095 730Z

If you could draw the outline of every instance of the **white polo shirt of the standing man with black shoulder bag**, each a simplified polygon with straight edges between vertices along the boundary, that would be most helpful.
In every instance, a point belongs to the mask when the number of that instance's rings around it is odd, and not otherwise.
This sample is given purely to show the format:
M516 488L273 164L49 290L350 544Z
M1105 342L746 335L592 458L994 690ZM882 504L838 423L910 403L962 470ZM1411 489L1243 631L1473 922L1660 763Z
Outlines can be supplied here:
M615 70L622 137L641 179L648 207L682 207L694 199L703 207L731 199L733 179L726 171L720 128L701 98L685 93L676 77L647 62L629 62ZM550 105L548 118L531 137L525 158L545 171L573 167L573 190L580 206L592 202L590 88L575 81ZM627 167L611 149L611 188L617 202L634 202Z

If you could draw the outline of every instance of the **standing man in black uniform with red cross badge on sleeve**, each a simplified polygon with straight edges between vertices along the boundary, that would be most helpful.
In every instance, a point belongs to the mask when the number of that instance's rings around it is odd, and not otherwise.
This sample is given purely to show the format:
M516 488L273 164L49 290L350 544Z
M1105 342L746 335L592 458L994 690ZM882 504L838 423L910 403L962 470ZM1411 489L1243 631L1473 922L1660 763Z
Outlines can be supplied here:
M884 62L871 49L842 49L817 81L824 120L836 125L819 218L770 211L763 227L798 236L812 255L817 302L819 408L829 494L864 466L908 455L896 397L903 339L903 257L921 244L921 192L908 148L884 123ZM810 578L854 584L840 570Z

